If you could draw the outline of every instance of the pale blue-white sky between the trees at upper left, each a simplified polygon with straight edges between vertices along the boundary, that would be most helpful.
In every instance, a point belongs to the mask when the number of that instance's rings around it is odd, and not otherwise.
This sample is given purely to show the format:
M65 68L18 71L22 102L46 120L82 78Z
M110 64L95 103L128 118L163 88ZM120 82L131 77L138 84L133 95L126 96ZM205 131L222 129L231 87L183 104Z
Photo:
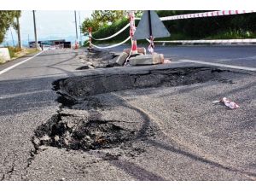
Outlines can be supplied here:
M82 23L86 17L90 17L92 11L79 11L77 10L77 23L79 33L79 23ZM80 15L80 18L79 18ZM80 19L80 20L79 20ZM48 38L66 39L67 41L75 41L75 17L74 11L64 10L49 10L36 11L36 25L38 32L38 40L46 40ZM20 32L23 44L27 44L28 40L34 40L33 17L31 10L21 12L20 17ZM14 29L10 29L5 36L5 42L12 44L12 36L17 40L17 35ZM80 35L80 34L79 34ZM73 40L72 40L73 39ZM80 36L79 36L80 39ZM4 44L4 43L3 43Z

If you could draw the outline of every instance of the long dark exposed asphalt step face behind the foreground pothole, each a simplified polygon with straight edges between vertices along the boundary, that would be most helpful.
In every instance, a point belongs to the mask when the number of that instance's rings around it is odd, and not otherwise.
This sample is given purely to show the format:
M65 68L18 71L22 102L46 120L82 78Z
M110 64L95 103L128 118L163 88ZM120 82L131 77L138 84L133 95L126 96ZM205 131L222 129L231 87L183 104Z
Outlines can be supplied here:
M224 73L221 75L221 73ZM148 87L179 86L204 83L210 80L226 80L229 70L216 67L179 67L164 70L145 70L139 73L100 74L73 77L55 81L55 90L70 102L84 100L86 96L118 90Z

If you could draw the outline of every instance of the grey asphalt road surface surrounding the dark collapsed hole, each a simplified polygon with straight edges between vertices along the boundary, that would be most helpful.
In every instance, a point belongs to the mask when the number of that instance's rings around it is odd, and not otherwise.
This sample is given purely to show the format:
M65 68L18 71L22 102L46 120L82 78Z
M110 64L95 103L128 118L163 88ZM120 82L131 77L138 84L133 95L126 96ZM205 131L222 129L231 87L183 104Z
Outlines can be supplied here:
M160 66L163 68L202 66L201 61L256 68L255 46L160 46L156 51L172 59L173 64ZM34 154L34 131L60 111L58 95L52 90L54 80L124 70L76 71L83 66L79 62L82 53L83 50L47 50L0 75L1 180L256 179L256 80L255 73L248 70L230 74L232 84L207 82L97 96L103 106L110 106L98 109L102 118L125 117L126 121L137 122L134 127L157 127L155 137L133 143L132 148L143 153L127 156L118 149L84 152L47 146ZM0 71L13 65L15 61L0 66ZM148 68L125 70L139 73ZM238 101L241 108L228 110L212 105L221 96ZM119 160L102 158L108 153L120 155Z

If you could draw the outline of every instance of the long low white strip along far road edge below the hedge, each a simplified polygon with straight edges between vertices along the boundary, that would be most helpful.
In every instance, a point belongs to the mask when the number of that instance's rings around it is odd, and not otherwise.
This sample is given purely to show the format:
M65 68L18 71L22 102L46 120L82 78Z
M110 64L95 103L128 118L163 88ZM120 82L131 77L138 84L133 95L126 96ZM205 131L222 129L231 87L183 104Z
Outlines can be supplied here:
M150 42L149 39L147 39ZM214 40L173 40L173 41L154 41L154 43L167 44L231 44L231 43L256 43L256 38L244 39L214 39Z

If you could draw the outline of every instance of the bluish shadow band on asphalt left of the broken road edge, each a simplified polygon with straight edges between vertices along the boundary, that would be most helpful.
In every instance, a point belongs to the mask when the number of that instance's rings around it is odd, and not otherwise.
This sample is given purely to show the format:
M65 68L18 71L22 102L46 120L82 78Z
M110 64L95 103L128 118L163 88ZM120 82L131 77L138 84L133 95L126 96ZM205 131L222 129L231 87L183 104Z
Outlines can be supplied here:
M0 115L57 105L53 81L49 77L0 81Z

